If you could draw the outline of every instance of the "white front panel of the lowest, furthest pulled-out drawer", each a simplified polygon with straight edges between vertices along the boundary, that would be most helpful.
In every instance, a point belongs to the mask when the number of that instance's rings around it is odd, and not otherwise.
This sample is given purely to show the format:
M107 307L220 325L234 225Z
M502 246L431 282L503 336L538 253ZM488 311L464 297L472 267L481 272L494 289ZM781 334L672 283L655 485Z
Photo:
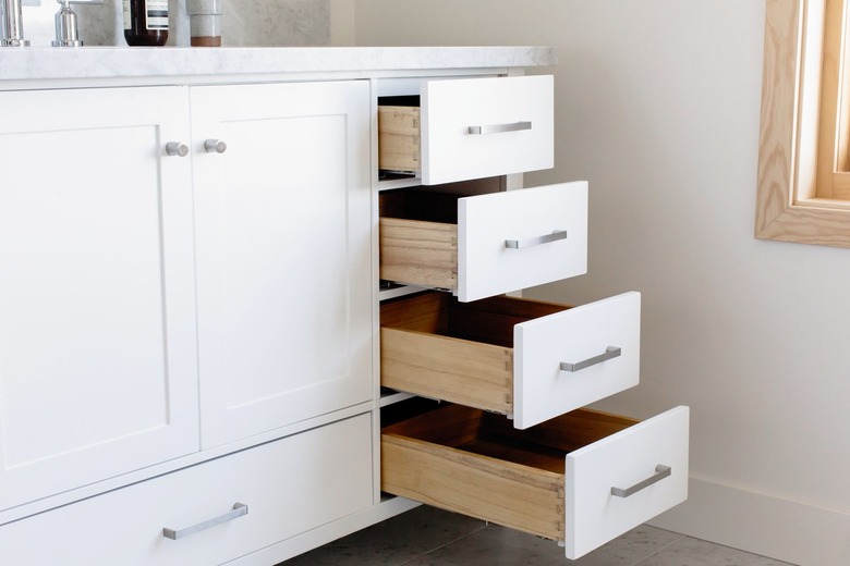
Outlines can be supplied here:
M586 554L688 497L689 421L689 408L676 407L567 455L568 558ZM669 476L657 471L661 466L670 468ZM636 492L617 496L611 488Z

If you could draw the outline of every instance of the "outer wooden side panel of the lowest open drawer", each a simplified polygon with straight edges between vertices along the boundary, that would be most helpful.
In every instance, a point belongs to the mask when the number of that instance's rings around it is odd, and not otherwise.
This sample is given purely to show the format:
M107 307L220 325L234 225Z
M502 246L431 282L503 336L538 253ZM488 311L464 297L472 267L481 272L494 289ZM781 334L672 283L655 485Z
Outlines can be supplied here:
M563 476L392 434L381 490L547 539L563 540Z

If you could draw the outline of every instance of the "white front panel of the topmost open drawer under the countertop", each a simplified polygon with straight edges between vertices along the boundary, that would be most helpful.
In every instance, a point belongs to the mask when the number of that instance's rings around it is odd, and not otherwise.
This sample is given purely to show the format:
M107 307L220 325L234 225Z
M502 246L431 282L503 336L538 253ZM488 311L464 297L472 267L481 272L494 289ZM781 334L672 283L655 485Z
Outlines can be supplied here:
M551 168L552 91L550 75L426 83L421 101L423 183Z

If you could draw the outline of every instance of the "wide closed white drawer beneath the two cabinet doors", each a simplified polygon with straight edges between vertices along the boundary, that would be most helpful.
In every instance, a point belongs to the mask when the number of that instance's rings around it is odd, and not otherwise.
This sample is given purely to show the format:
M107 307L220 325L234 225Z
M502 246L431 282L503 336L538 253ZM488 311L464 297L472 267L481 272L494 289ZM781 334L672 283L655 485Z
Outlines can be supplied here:
M369 506L371 440L362 415L4 525L3 563L226 563Z

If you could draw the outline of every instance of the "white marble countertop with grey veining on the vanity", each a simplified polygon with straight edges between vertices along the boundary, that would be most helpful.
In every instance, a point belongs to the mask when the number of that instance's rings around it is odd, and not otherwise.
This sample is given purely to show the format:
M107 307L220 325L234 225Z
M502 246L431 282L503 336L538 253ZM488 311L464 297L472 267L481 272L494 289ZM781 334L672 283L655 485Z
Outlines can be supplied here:
M3 82L529 67L557 64L551 47L82 47L0 48Z

